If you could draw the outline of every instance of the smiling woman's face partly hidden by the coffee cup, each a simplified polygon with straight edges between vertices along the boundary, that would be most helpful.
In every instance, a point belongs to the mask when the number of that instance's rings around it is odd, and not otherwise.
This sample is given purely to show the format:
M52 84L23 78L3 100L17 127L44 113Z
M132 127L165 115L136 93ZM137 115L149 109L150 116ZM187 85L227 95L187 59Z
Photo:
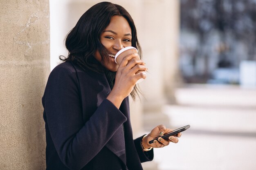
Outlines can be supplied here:
M101 33L100 41L108 51L109 60L103 61L98 50L95 58L109 71L117 71L119 66L115 63L116 53L124 47L132 46L132 31L127 20L122 16L112 16L110 23Z

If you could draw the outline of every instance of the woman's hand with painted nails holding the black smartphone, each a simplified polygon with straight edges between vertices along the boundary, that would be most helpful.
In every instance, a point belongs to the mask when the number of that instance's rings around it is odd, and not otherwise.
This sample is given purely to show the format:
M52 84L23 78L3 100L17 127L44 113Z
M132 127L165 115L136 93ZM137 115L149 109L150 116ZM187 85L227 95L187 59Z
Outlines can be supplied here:
M175 136L169 136L168 140L163 139L162 137L164 134L173 131L172 129L166 128L164 125L158 125L157 127L153 128L151 132L143 138L143 145L146 149L153 147L153 148L162 148L164 146L169 145L170 142L177 143L179 139L177 137L181 136L181 133L178 133ZM149 144L149 141L153 140L154 138L159 137L158 139L155 139L152 144Z

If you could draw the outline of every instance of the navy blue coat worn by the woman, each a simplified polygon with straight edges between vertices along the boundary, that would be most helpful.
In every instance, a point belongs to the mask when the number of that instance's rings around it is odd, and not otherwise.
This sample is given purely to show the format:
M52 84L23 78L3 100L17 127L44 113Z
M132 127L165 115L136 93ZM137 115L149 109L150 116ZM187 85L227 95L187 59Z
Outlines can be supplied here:
M59 64L45 88L46 169L142 170L153 150L142 151L142 137L133 140L128 97L118 109L106 99L105 74L75 68Z

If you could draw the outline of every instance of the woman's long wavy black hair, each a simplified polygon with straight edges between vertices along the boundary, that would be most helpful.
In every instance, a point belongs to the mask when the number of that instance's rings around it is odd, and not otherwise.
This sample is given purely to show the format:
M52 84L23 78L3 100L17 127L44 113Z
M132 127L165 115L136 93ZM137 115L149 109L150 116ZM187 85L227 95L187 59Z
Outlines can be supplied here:
M123 16L128 21L132 31L132 46L138 49L139 56L141 56L141 46L130 14L118 4L100 2L88 9L67 34L65 45L69 53L67 57L61 55L60 60L74 62L85 71L89 69L97 73L104 73L106 68L95 59L94 54L98 50L102 60L108 60L108 51L101 44L100 36L114 15ZM138 92L139 88L135 85L130 94L133 100Z

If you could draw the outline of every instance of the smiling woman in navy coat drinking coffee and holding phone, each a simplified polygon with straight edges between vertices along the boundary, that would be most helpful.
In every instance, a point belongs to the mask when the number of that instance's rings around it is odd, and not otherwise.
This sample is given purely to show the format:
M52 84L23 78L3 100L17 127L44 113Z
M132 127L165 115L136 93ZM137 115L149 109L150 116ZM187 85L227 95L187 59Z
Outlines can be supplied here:
M163 125L133 140L128 95L146 78L142 60L115 54L126 46L139 50L137 32L121 6L101 2L86 11L66 37L65 62L49 75L43 96L47 170L142 170L153 149L177 143L159 137L171 131ZM178 134L177 137L180 137Z

